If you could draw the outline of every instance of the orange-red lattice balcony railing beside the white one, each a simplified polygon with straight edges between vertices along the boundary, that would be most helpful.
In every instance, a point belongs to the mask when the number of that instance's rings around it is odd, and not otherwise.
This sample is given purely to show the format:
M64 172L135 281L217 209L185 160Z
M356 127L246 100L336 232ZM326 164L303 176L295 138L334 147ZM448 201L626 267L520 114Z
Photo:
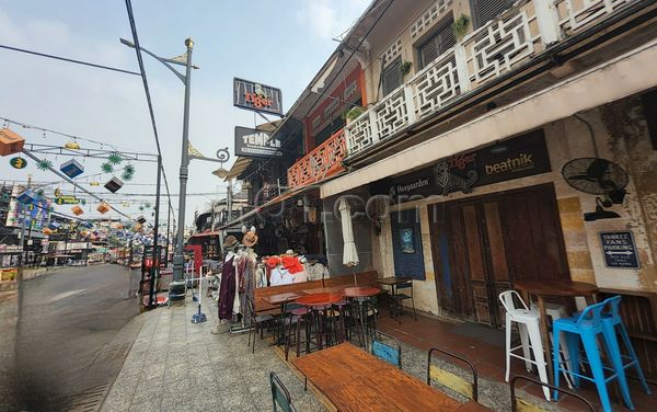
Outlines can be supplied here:
M343 171L342 160L347 154L343 129L306 154L288 169L289 187L315 183Z

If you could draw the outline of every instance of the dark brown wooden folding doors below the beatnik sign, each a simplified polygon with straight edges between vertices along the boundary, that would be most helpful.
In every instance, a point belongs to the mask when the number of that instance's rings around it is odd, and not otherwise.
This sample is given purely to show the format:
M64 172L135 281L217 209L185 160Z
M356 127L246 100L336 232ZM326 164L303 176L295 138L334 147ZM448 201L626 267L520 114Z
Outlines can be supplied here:
M552 184L428 211L438 305L454 317L502 328L497 295L515 279L569 277Z

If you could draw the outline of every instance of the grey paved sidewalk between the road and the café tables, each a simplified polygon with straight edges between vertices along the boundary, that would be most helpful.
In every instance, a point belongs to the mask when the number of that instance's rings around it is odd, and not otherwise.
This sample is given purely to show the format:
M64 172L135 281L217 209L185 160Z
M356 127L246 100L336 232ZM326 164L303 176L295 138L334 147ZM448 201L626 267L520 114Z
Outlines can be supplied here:
M245 333L210 333L216 306L204 308L208 321L200 324L191 322L196 309L188 298L141 314L147 319L102 411L270 411L269 371L299 411L324 411L265 341L252 354Z

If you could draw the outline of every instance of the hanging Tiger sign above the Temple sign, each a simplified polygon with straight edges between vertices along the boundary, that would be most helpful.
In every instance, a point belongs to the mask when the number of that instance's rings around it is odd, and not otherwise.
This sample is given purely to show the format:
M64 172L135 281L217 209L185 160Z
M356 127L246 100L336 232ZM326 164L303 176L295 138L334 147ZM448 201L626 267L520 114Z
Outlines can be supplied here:
M244 79L233 78L233 105L283 116L280 89Z

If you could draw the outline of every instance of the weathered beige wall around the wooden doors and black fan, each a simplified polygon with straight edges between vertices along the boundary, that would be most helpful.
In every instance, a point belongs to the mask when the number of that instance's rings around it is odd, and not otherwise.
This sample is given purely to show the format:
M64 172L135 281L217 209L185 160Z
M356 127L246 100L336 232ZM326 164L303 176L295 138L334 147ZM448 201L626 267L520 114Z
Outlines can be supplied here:
M420 208L420 231L425 255L426 281L415 282L416 306L439 313L427 205L440 201L481 196L487 193L553 183L564 233L568 265L573 279L596 283L600 287L657 291L655 244L657 244L657 151L653 150L647 126L637 98L625 99L598 107L581 117L591 124L599 156L619 163L630 173L627 195L622 205L612 207L621 218L585 222L583 214L593 211L596 196L572 188L562 178L563 165L579 157L593 157L595 148L587 126L568 117L543 127L552 172L537 176L476 187L470 195L453 193L403 204L402 208ZM618 270L604 266L599 232L632 230L639 250L639 270ZM379 236L381 275L392 276L392 238L385 221Z

